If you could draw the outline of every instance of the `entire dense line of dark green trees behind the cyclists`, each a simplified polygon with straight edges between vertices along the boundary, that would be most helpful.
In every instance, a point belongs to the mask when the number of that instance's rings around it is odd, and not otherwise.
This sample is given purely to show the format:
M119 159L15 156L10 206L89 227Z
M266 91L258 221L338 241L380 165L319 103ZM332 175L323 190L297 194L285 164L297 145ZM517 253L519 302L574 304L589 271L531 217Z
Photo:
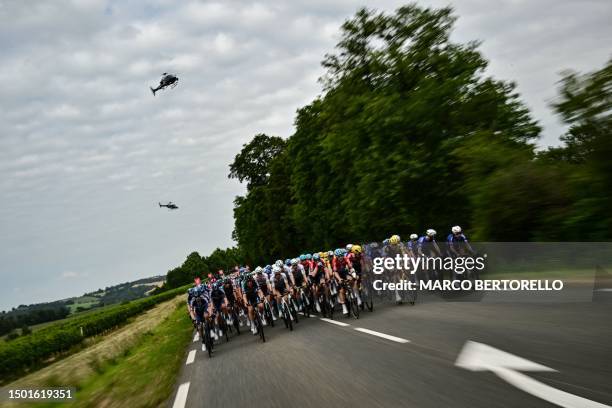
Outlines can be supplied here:
M607 240L612 233L612 68L567 74L553 109L564 145L477 43L449 39L452 10L360 10L323 60L323 94L287 140L258 134L230 165L247 183L234 238L252 264L460 224L479 240Z

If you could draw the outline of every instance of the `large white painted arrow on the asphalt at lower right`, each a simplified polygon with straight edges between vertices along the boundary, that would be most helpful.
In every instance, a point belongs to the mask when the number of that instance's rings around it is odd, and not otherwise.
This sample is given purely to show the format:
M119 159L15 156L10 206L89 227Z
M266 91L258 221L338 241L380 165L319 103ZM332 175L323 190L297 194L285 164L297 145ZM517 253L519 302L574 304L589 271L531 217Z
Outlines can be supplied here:
M471 371L492 371L498 377L533 396L565 408L609 408L608 405L561 391L534 380L520 371L557 371L506 353L486 344L468 341L455 365Z

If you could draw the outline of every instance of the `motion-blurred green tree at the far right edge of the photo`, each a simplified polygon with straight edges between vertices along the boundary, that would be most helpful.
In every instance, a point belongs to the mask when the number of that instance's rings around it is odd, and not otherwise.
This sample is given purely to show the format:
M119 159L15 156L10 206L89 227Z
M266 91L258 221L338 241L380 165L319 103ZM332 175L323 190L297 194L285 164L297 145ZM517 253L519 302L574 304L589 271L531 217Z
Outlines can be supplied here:
M609 239L612 234L612 59L602 69L561 80L555 111L569 126L564 145L540 155L569 174L574 196L567 230L581 239Z

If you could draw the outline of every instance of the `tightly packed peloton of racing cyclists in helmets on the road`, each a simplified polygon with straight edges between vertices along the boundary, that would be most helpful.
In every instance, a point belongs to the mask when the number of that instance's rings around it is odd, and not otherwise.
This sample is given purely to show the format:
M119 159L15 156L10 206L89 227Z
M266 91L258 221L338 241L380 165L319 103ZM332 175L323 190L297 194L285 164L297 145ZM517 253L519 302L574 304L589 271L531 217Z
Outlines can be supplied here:
M194 327L200 327L205 319L213 318L211 335L215 340L222 336L219 319L225 318L230 325L233 323L228 308L236 311L234 316L244 317L246 314L245 319L248 319L253 334L257 334L255 308L259 310L264 326L269 320L281 317L281 305L308 313L304 299L314 302L312 308L317 313L322 312L321 301L325 299L326 306L333 309L335 300L340 303L342 313L346 316L349 313L346 290L352 289L361 306L363 301L358 288L362 273L371 268L373 258L395 257L398 254L409 257L442 257L443 253L460 257L476 253L458 225L453 226L446 237L446 245L443 247L445 251L438 244L436 236L437 232L429 228L420 237L415 233L410 234L409 240L405 242L401 241L399 235L392 235L382 245L372 243L362 248L361 245L347 244L345 248L333 251L306 253L284 261L279 259L273 265L256 267L254 272L246 265L234 267L229 274L220 269L214 275L208 274L206 284L200 278L194 279L194 286L187 293L187 309ZM395 277L401 278L402 272L394 271L397 275ZM443 279L442 272L434 271L435 278ZM334 297L336 294L337 298ZM397 291L396 300L401 303ZM267 314L264 314L264 303L269 312ZM204 339L202 341L205 350Z

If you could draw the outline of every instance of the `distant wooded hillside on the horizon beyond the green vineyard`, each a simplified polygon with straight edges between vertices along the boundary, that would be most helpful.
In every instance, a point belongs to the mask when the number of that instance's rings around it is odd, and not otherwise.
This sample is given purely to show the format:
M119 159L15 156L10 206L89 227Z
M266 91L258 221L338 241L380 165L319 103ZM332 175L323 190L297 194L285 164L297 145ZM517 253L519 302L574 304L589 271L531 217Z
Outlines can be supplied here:
M83 296L71 297L47 303L19 305L10 311L0 312L0 336L8 334L14 338L20 333L27 333L30 326L63 319L71 314L89 310L94 307L126 302L147 296L161 286L166 277L163 275L138 279L133 282L120 283L85 293Z

